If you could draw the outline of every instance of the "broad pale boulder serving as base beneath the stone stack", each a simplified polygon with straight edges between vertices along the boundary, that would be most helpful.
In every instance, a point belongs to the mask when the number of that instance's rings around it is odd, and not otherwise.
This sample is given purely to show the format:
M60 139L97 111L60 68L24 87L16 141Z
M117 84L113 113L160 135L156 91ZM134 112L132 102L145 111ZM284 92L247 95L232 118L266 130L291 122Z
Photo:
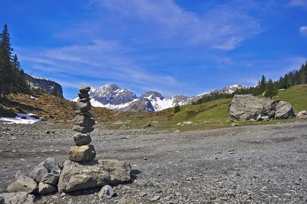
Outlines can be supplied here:
M75 162L67 160L58 183L59 192L116 185L130 180L131 167L115 159Z

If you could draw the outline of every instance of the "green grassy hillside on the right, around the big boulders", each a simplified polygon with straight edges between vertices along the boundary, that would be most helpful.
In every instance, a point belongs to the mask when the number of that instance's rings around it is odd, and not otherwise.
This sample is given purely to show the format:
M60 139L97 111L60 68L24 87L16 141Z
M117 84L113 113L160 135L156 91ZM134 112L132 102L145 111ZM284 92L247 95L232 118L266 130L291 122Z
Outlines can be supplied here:
M258 96L262 97L262 96ZM264 98L264 97L262 97ZM295 112L307 110L307 86L290 87L287 90L280 91L273 100L285 100L290 103ZM197 130L197 129L212 129L231 126L228 122L229 112L228 106L232 99L218 99L209 103L200 105L181 106L181 111L174 113L174 108L168 108L157 112L122 112L115 116L115 121L122 121L127 126L142 127L146 123L151 123L153 128L157 127L173 127L173 129L182 130ZM128 113L136 114L135 117L127 116ZM158 121L159 123L153 121ZM184 121L192 121L194 125L177 126L178 123ZM275 121L258 121L253 124L268 124L276 123ZM195 125L197 124L197 125ZM242 125L250 125L245 123Z

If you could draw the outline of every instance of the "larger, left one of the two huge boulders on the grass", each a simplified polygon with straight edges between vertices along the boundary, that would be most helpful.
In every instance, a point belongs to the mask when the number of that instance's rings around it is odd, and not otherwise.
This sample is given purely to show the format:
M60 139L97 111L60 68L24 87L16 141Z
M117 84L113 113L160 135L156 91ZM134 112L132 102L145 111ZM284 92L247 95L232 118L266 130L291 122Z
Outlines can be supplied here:
M274 118L277 103L274 100L251 95L234 95L229 104L230 121L257 119L259 115Z

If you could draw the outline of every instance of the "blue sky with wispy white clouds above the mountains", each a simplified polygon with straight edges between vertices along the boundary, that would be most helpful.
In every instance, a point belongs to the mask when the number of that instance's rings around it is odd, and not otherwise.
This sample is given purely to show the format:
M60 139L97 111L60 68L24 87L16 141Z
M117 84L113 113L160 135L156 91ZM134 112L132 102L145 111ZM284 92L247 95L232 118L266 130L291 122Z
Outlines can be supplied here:
M14 54L33 76L140 96L256 85L307 60L307 0L4 1Z

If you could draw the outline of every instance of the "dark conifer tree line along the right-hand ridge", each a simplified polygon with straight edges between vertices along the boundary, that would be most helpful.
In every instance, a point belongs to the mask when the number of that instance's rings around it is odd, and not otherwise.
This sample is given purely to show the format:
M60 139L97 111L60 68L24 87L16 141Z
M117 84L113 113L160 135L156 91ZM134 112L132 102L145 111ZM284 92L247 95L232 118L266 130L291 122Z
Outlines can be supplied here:
M197 101L193 101L192 104L204 104L212 100L223 99L223 98L233 98L236 94L252 94L261 95L264 94L265 97L270 97L272 99L278 93L279 89L288 89L289 87L306 84L307 83L307 61L302 64L299 70L293 70L285 74L283 77L280 76L277 81L274 81L270 78L268 81L265 75L262 75L261 80L258 81L258 84L254 87L248 89L237 89L233 93L222 93L214 92L211 94L206 94Z

